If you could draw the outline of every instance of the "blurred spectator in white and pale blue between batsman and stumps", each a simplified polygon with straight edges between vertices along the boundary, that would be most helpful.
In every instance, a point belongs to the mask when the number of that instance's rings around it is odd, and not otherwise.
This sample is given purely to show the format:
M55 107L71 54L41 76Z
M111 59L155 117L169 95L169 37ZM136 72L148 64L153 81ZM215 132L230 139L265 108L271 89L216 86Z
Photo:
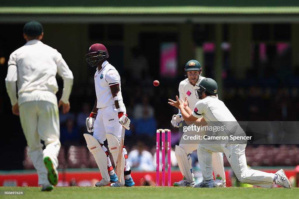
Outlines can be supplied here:
M131 167L141 171L154 171L155 164L152 154L146 150L143 141L137 141L136 144L136 149L128 154Z

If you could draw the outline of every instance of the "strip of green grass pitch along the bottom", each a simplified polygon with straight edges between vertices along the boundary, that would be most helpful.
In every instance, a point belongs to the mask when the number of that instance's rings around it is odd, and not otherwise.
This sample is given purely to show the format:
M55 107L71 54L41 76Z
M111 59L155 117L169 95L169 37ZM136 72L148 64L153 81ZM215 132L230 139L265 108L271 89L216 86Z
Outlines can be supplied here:
M23 191L24 195L4 196L4 191ZM55 187L52 192L41 192L40 187L0 187L0 198L137 198L137 199L159 199L159 198L219 198L219 199L252 199L252 198L297 198L299 188L193 188L193 187Z

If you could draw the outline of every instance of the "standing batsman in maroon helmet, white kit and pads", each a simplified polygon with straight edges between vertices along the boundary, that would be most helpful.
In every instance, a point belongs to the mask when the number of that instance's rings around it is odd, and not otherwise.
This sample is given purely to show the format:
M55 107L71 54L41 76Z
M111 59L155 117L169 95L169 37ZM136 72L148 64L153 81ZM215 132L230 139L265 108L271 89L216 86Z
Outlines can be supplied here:
M130 124L130 119L125 114L126 107L121 95L120 75L115 67L106 61L109 54L103 44L91 45L86 57L86 61L91 67L97 66L94 74L97 99L90 116L86 118L87 130L93 132L93 136L84 134L87 147L93 154L103 178L95 186L105 186L109 183L112 187L134 186L126 149L123 148L122 162L124 164L121 165L121 170L124 173L121 176L124 176L125 180L122 183L123 179L118 179L115 174L107 149L103 145L107 139L109 151L116 164L122 128L129 129Z

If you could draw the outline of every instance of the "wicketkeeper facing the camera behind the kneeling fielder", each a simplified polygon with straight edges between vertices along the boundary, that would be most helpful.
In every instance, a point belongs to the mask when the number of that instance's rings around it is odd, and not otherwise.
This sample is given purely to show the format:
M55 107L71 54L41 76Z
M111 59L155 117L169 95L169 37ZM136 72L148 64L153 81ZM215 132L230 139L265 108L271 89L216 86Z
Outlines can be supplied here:
M202 67L196 60L190 60L185 65L185 79L179 84L179 99L185 99L185 103L189 104L189 107L194 107L199 99L196 98L195 89L196 84L199 84L205 77L201 76ZM184 119L181 116L181 112L173 115L171 124L174 127L180 127ZM192 171L192 162L190 154L197 149L200 140L192 140L188 142L184 140L184 135L194 136L196 134L205 134L205 132L187 131L184 132L181 137L179 146L176 145L175 155L178 161L180 171L183 175L183 179L179 182L173 183L173 186L194 186L195 179ZM186 137L186 136L185 136ZM223 154L213 153L213 172L215 176L215 185L218 187L225 187L225 172L223 167Z

